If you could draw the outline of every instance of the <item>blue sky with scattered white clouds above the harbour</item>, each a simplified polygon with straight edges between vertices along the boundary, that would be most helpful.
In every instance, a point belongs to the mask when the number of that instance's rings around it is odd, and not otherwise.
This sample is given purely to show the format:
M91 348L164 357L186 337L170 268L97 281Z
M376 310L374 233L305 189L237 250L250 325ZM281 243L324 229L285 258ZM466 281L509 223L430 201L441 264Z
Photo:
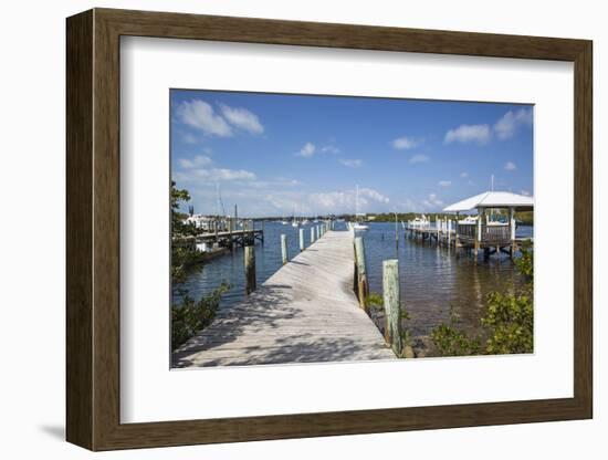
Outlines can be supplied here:
M170 92L171 176L197 213L434 212L533 195L533 106ZM221 211L221 210L220 210Z

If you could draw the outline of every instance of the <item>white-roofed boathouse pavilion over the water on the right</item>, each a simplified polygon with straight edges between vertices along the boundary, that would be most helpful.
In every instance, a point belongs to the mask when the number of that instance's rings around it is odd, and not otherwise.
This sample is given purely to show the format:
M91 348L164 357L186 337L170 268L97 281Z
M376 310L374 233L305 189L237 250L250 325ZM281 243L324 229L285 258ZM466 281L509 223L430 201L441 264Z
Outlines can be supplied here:
M476 210L475 217L460 219L461 212ZM450 205L444 212L455 212L454 243L486 254L517 249L515 211L534 210L534 198L509 191L486 191Z

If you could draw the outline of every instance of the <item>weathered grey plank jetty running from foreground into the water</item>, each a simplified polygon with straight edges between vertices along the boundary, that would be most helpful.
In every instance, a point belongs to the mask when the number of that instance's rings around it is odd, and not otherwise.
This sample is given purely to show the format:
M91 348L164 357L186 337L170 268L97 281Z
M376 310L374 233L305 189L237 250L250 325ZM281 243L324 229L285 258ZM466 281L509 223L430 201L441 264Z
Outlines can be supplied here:
M353 291L353 233L325 231L172 354L175 367L396 358Z

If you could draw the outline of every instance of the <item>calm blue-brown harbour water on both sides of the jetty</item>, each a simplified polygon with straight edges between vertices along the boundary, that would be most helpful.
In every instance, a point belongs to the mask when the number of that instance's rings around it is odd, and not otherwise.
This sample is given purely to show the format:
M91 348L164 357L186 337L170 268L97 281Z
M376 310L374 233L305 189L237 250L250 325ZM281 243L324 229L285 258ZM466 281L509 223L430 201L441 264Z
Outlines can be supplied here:
M306 247L310 244L311 224L304 227ZM346 230L336 223L336 230ZM298 229L291 224L266 222L265 243L255 248L258 284L268 280L281 268L280 236L287 236L290 259L300 252ZM518 282L512 261L506 254L492 255L475 264L471 257L455 258L444 248L403 238L399 224L399 244L395 243L395 223L370 223L360 232L365 239L369 286L373 292L382 290L382 260L399 259L401 297L410 315L407 322L412 335L427 335L442 322L450 320L450 305L459 317L460 326L476 331L482 314L483 299L490 291L501 291L513 281ZM518 227L518 237L532 237L532 227ZM221 301L221 309L230 309L244 296L243 251L235 250L209 262L189 276L184 288L199 299L222 281L231 289ZM177 294L174 294L177 301Z

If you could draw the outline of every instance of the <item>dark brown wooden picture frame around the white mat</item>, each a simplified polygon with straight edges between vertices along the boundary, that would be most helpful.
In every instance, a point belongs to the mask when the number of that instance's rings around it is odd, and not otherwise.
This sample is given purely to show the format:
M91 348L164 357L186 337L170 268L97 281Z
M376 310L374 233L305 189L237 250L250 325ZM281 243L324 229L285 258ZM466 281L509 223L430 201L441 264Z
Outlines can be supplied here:
M593 417L590 41L94 9L67 19L66 438L92 450ZM119 39L156 36L574 63L574 397L120 424Z

